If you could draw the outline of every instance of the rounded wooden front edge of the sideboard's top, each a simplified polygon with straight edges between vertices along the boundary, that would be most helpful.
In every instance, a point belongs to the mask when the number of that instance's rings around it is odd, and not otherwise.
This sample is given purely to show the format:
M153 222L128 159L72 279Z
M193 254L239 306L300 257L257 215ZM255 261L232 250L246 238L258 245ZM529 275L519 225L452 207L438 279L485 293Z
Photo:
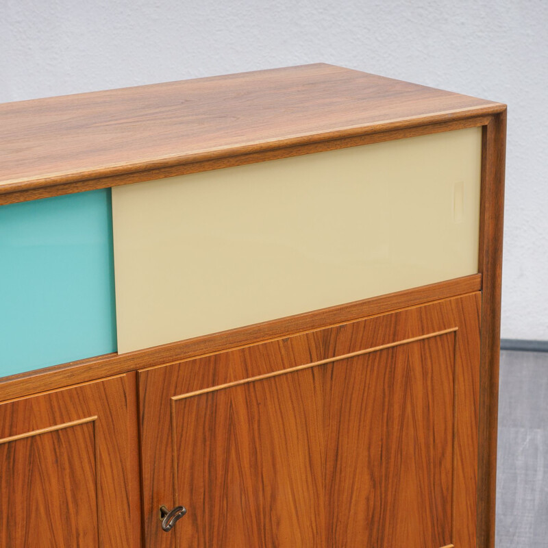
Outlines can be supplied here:
M177 155L155 162L98 167L77 173L58 173L41 179L23 179L0 185L0 206L86 190L151 181L176 175L222 169L243 164L278 160L290 156L368 145L453 129L487 125L490 117L506 105L493 103L477 108L443 112L430 116L351 127L336 132L296 136L284 140L257 142L245 147L206 151L199 155Z

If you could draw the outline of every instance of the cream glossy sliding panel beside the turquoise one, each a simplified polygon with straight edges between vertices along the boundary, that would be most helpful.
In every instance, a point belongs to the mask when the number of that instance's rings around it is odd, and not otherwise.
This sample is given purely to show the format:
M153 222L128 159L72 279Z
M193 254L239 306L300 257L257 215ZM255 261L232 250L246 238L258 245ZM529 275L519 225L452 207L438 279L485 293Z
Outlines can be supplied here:
M476 273L481 135L113 188L119 352Z

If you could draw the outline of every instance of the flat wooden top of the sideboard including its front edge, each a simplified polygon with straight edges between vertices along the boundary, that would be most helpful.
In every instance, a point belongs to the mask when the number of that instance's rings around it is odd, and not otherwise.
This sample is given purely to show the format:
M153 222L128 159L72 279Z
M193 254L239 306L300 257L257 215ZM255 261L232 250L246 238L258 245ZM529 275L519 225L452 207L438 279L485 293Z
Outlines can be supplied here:
M505 108L329 64L4 103L0 204Z

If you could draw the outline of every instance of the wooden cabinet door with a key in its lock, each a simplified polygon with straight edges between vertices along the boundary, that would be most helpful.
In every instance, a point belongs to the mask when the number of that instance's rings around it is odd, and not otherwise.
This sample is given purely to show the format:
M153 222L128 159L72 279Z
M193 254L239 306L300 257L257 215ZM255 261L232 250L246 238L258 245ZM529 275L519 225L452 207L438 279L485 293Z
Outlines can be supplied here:
M142 371L147 546L475 546L479 304Z

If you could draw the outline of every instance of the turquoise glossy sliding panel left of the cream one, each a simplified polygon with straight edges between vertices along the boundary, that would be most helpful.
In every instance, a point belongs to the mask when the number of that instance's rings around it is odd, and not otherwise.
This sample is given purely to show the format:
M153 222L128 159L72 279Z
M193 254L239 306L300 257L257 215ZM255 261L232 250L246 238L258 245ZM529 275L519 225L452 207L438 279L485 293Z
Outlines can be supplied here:
M0 376L112 351L110 189L0 206Z

